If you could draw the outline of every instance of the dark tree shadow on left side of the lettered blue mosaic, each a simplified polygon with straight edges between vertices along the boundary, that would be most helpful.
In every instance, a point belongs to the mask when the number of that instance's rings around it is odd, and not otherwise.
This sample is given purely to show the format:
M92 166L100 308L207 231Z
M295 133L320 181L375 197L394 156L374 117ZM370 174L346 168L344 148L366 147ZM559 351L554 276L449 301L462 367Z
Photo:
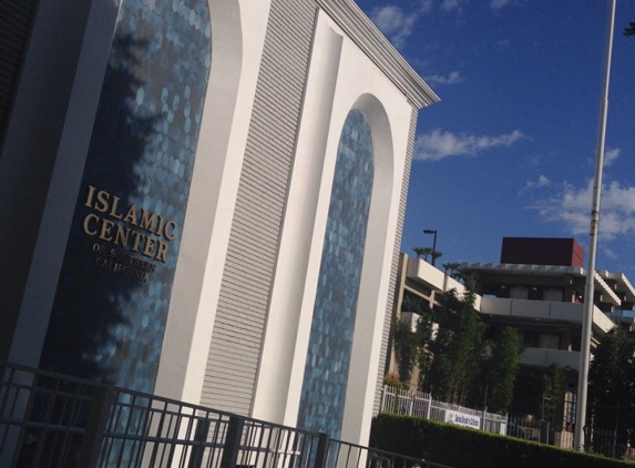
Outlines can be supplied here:
M146 47L146 41L131 34L116 35L113 41L40 363L48 370L107 384L117 381L122 360L130 354L127 335L133 324L126 304L144 287L139 277L109 271L106 265L114 265L106 262L130 266L132 258L126 262L123 245L105 238L115 235L111 213L125 212L130 201L140 196L143 185L135 169L158 119L157 114L142 114L133 104L144 84L136 69ZM106 183L107 193L100 193ZM115 197L120 200L115 202ZM140 234L136 236L141 245ZM134 241L129 238L127 244L134 245ZM130 254L133 257L134 252Z

